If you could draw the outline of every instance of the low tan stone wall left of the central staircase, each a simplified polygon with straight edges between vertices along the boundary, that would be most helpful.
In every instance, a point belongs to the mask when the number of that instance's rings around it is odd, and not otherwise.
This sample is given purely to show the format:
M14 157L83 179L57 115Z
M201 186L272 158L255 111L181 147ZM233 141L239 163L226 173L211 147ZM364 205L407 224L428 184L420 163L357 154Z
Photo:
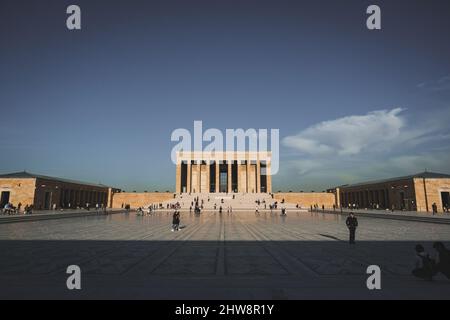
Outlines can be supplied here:
M120 192L113 195L112 207L118 209L129 204L131 208L138 208L170 199L173 199L171 192Z

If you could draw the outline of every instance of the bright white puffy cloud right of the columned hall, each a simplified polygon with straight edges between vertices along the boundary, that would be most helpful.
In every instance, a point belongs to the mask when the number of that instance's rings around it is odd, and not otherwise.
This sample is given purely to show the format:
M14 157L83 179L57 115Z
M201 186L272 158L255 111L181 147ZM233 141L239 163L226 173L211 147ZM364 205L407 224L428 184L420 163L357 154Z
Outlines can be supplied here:
M402 111L402 108L379 110L323 121L297 135L285 137L282 142L287 147L315 156L356 155L383 149L397 139L406 138L401 135L405 127Z

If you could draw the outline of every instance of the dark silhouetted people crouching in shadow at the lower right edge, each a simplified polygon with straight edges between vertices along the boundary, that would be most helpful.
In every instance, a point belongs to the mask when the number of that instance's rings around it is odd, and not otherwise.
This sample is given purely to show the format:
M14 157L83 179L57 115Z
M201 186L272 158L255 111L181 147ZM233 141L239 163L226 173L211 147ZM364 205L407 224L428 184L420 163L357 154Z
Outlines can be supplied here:
M442 242L433 243L433 249L436 251L435 258L432 258L421 244L416 245L416 265L412 274L431 281L438 273L442 273L450 279L450 250Z

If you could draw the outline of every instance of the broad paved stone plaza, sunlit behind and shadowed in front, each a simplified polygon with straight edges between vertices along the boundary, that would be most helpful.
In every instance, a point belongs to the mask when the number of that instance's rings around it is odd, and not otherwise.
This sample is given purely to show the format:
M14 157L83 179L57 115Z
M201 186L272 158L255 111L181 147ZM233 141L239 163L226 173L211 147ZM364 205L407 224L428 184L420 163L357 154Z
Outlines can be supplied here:
M414 245L450 244L450 225L289 211L151 216L118 213L0 224L0 298L307 299L442 298L450 281L414 279ZM82 289L68 290L78 265ZM366 268L382 289L366 287Z

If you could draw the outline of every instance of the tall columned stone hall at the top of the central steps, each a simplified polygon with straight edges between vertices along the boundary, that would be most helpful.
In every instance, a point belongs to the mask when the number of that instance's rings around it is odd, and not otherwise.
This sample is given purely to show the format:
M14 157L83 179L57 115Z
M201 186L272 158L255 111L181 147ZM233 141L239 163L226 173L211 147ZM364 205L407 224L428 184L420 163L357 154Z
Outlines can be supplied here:
M177 193L271 193L271 152L177 153Z

